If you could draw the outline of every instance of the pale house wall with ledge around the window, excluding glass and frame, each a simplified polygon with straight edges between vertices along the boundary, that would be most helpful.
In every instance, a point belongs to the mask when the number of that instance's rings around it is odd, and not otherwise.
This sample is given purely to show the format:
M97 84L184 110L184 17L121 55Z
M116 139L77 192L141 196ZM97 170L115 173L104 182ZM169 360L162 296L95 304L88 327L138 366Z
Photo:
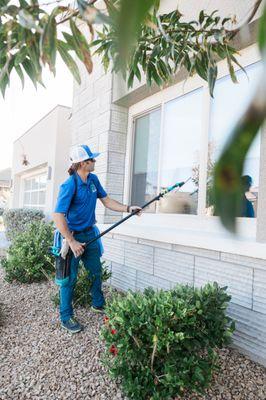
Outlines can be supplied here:
M206 6L205 1L178 2L188 7L187 10L200 9L199 3ZM211 4L213 8L214 3ZM217 9L222 5L225 15L232 9L232 2L216 3ZM164 1L163 11L170 11L176 4L177 1ZM243 2L235 1L234 7L243 7ZM256 40L255 28L253 22L248 35L244 39L237 38L237 47L243 49L243 54ZM250 63L258 59L256 49L253 50ZM128 204L133 118L141 110L153 107L156 103L153 96L160 99L161 92L157 87L147 88L144 80L128 91L121 77L105 74L97 59L92 75L89 76L82 66L80 68L82 84L74 87L72 143L84 142L93 151L102 152L96 163L96 173L111 197ZM186 74L181 71L175 84L185 78ZM190 81L187 84L190 85ZM174 92L176 87L173 85L169 90ZM144 105L141 102L145 102ZM261 136L261 160L265 160L265 130ZM202 157L206 159L207 154ZM265 174L262 161L260 181L266 181ZM143 290L147 286L169 289L176 283L200 286L207 281L227 285L232 295L229 314L237 322L234 344L266 365L266 254L265 245L259 242L266 239L265 198L266 188L262 186L258 223L239 220L237 237L224 231L217 218L200 214L144 214L141 218L132 218L103 238L104 258L112 269L111 284L124 290ZM98 206L101 231L119 218L118 213Z

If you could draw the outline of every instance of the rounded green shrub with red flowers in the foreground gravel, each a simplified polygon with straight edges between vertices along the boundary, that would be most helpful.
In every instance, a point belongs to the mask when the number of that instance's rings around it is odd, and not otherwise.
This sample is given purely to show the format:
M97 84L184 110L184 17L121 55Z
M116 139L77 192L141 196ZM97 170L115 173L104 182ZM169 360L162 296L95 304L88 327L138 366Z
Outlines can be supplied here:
M217 369L215 349L229 343L230 296L216 283L118 295L107 306L103 363L126 395L163 400L204 393Z

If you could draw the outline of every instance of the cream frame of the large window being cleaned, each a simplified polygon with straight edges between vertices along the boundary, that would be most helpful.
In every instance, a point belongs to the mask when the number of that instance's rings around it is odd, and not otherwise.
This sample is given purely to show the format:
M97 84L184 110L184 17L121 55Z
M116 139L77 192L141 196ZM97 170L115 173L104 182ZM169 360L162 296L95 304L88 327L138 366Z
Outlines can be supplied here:
M257 45L251 45L240 52L238 57L239 62L243 67L248 67L261 60ZM226 60L219 62L218 64L218 77L217 79L223 78L228 75L228 67ZM236 71L240 68L235 68ZM124 185L124 199L129 204L131 199L131 187L132 187L132 171L133 171L133 161L134 161L134 137L135 137L135 121L137 118L148 114L155 109L161 109L161 126L160 126L160 149L159 149L159 163L158 163L158 188L161 179L161 163L162 163L162 132L163 132L163 122L164 122L164 109L165 103L174 100L180 96L190 93L194 90L202 88L203 95L203 120L202 120L202 136L200 140L200 148L204 151L200 152L200 184L198 192L198 210L196 215L190 214L163 214L157 212L150 214L146 217L144 214L144 219L147 222L151 217L155 218L158 223L164 224L169 217L164 218L166 215L171 216L177 224L182 220L185 222L184 217L189 217L186 223L187 227L192 227L197 221L206 221L206 231L209 230L208 221L212 220L218 221L218 217L206 216L205 215L205 205L206 205L206 183L207 183L207 162L208 162L208 142L209 142L209 123L210 123L210 109L211 109L211 98L209 95L209 89L207 82L203 81L199 76L194 76L188 78L185 81L178 82L172 86L169 86L141 101L133 104L129 108L129 118L128 118L128 131L127 131L127 143L126 143L126 157L125 157L125 185ZM260 167L261 168L261 167ZM196 218L196 219L195 219ZM240 234L248 234L246 225L248 222L249 230L252 231L252 237L256 235L256 221L250 218L239 218L239 231ZM216 222L215 222L216 223ZM211 223L212 224L212 223Z

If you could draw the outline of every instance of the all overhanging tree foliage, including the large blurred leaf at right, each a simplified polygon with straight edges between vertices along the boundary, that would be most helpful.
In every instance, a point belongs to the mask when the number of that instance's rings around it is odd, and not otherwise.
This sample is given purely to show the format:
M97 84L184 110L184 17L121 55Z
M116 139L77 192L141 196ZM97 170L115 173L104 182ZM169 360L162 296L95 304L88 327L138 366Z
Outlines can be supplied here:
M233 82L236 58L232 38L238 32L228 31L228 18L204 10L196 21L184 22L178 10L159 15L160 0L104 0L106 12L96 7L96 0L77 0L77 8L49 5L38 0L0 0L0 90L5 95L11 74L15 71L24 85L25 75L33 84L43 85L43 68L56 72L56 57L61 56L74 78L80 83L75 61L78 58L90 73L93 68L91 49L103 65L122 71L132 86L135 78L146 75L148 85L163 86L183 67L188 75L198 74L208 82L210 94L217 78L217 62L226 59ZM262 0L256 0L247 20L255 15ZM55 6L53 5L55 4ZM75 4L75 3L74 3ZM214 192L216 209L223 224L234 231L240 206L240 177L245 156L266 117L266 5L260 18L258 43L264 72L260 86L245 115L232 135L215 167ZM88 35L83 28L88 28ZM101 30L95 24L103 24Z

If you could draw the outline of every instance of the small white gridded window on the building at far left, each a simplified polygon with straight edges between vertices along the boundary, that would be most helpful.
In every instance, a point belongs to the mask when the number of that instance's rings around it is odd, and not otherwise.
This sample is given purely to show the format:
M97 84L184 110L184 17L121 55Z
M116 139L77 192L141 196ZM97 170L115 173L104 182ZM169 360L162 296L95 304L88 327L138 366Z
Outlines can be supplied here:
M23 207L44 210L46 173L24 179Z

